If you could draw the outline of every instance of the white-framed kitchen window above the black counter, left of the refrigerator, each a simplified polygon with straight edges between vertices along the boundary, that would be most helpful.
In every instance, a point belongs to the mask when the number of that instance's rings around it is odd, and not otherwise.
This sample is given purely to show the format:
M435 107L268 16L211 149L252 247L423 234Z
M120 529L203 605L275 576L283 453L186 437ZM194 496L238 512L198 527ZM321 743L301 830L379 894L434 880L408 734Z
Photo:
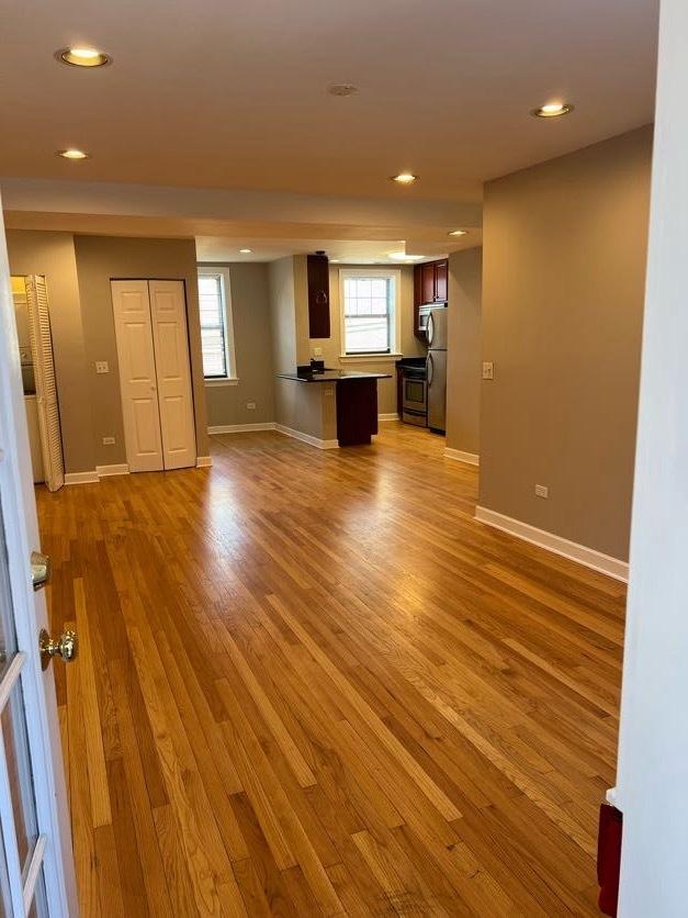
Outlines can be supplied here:
M393 354L398 342L399 272L341 270L342 356Z

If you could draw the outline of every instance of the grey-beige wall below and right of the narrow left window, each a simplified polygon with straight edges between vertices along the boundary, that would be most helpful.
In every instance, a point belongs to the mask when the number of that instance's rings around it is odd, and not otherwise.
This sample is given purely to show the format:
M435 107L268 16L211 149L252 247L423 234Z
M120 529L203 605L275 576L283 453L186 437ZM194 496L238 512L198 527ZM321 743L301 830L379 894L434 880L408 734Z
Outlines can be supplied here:
M204 262L210 265L210 262ZM274 371L270 328L268 265L221 264L229 271L237 385L205 384L211 427L274 421ZM256 408L246 407L255 402Z

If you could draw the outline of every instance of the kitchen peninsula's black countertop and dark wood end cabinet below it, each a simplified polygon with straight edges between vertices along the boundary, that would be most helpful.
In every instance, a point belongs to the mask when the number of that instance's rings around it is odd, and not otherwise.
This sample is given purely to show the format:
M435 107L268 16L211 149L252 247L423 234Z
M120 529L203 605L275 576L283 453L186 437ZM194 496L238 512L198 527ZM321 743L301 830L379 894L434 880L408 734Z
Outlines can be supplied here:
M339 446L370 444L377 433L377 380L388 373L354 373L346 370L278 373L278 379L301 385L329 384L335 389L337 443Z

